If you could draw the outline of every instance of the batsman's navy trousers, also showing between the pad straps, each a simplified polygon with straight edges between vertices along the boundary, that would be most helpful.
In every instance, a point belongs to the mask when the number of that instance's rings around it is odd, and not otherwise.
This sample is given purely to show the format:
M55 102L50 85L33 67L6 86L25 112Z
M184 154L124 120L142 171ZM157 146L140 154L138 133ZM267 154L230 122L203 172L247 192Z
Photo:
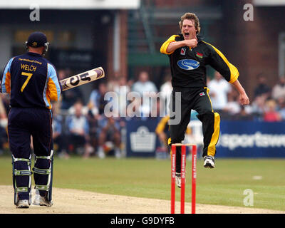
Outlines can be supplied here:
M29 159L31 156L31 136L33 152L36 156L49 156L53 150L51 111L46 108L11 108L8 116L9 147L15 158ZM51 160L36 162L38 169L48 169ZM14 162L14 170L29 170L27 162ZM46 185L48 175L33 175L36 185ZM30 177L14 176L16 187L28 187ZM15 187L15 186L14 186ZM18 193L19 199L28 199L28 192Z

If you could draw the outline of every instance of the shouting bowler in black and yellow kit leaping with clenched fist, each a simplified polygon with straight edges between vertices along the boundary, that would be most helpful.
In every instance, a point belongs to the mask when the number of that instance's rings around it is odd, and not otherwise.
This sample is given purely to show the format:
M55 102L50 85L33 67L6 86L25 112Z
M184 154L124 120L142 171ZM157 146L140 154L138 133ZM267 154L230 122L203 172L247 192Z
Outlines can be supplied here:
M219 114L214 113L207 88L206 66L216 71L239 91L242 105L249 104L249 98L238 81L239 71L217 48L202 41L199 36L199 19L195 14L186 13L179 22L181 33L173 35L162 44L160 52L170 58L172 72L172 107L175 106L175 93L181 93L181 110L174 110L181 115L177 125L170 125L169 144L180 143L185 138L185 130L190 122L191 110L196 110L197 118L202 121L204 135L204 167L214 168L214 155L219 139ZM170 110L172 108L170 107ZM174 116L171 119L175 118ZM177 147L176 182L180 187L181 147Z

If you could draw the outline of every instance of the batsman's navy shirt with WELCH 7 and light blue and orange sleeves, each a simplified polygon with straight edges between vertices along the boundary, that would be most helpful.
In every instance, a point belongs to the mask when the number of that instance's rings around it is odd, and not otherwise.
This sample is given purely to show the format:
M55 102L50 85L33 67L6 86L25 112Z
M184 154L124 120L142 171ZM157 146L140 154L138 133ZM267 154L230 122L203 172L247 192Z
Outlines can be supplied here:
M7 63L0 92L11 95L11 107L51 109L51 100L61 95L61 85L56 68L38 53L28 52Z

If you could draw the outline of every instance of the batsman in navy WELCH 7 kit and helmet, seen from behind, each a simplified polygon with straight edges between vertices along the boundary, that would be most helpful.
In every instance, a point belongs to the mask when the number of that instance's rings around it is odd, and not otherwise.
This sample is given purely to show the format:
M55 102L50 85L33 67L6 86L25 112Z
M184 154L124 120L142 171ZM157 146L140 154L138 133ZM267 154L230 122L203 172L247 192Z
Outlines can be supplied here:
M51 207L53 139L51 101L58 100L61 86L56 68L43 58L46 36L34 32L26 42L27 53L11 58L1 80L1 93L10 94L9 147L12 153L14 204L31 204L31 175L40 195L39 204ZM35 165L31 171L31 136Z

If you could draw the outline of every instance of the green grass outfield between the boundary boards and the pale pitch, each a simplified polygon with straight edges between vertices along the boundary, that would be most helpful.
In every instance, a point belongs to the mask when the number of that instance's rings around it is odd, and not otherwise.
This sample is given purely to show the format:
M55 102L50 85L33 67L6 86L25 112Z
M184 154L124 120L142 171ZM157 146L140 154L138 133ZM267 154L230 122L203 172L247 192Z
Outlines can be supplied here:
M11 168L11 157L1 156L0 185L12 184ZM186 168L186 201L190 202L190 161ZM244 190L250 189L254 192L254 208L285 211L284 171L284 159L217 158L213 170L205 169L198 160L197 203L245 207ZM53 186L170 200L170 160L55 157Z

